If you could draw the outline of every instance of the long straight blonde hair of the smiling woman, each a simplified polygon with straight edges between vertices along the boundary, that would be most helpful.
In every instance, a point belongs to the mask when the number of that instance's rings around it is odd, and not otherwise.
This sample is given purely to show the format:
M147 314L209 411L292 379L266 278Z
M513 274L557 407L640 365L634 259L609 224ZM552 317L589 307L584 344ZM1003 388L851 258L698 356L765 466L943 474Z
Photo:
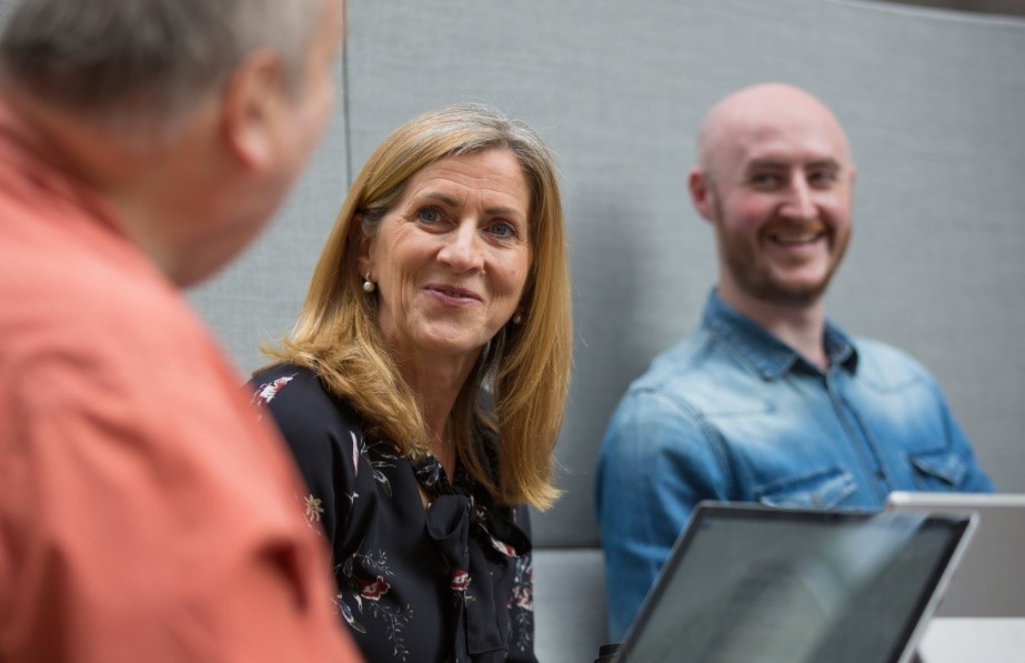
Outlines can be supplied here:
M523 122L468 103L426 112L399 127L360 172L328 237L302 312L281 348L268 354L308 366L383 435L414 460L428 430L376 322L356 267L360 241L374 237L409 180L445 157L511 151L531 191L531 267L520 302L522 322L508 323L484 348L452 409L448 429L470 474L499 502L547 509L553 451L562 426L572 362L572 312L565 224L555 165ZM491 390L493 408L481 406ZM474 443L474 428L499 439L498 472Z

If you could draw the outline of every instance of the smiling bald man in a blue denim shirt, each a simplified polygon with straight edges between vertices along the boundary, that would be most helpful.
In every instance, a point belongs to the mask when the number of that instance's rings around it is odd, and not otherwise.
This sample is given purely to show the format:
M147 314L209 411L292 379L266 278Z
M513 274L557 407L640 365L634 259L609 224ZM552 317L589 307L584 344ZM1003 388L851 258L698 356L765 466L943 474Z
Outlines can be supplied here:
M689 187L715 229L718 284L602 443L613 639L701 500L877 509L895 490L993 490L932 375L826 318L857 174L830 109L791 86L746 88L709 111L697 142Z

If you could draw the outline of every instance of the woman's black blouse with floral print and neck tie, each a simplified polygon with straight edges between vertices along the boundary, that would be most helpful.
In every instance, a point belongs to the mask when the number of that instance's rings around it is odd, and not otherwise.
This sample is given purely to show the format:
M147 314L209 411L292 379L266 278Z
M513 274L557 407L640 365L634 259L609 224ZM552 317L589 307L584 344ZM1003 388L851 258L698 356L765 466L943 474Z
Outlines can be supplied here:
M536 661L525 506L365 439L360 415L307 369L273 366L253 384L307 480L301 508L330 540L334 602L368 661Z

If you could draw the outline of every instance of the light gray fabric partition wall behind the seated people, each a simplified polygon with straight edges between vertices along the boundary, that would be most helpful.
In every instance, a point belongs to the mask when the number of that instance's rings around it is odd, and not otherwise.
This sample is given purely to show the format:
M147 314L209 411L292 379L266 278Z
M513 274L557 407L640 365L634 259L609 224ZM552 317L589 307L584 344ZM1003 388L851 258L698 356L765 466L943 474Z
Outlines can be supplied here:
M293 320L353 169L388 131L481 100L544 133L577 329L566 494L535 526L542 660L591 661L603 639L596 448L629 381L695 324L715 278L685 173L702 113L742 86L790 81L835 109L860 175L830 309L931 366L998 488L1025 492L1025 22L831 0L348 4L326 141L273 228L190 298L248 372Z

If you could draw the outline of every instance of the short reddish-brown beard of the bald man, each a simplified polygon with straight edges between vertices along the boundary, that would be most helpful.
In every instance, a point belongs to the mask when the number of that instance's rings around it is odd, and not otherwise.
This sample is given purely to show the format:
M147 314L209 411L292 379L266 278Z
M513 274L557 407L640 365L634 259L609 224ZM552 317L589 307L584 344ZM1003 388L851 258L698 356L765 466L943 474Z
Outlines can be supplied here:
M731 234L724 230L718 200L713 200L712 207L720 257L740 290L757 301L795 309L810 307L822 299L846 254L850 232L837 235L832 225L825 224L833 262L822 279L812 282L782 279L763 254L761 239L750 234Z

